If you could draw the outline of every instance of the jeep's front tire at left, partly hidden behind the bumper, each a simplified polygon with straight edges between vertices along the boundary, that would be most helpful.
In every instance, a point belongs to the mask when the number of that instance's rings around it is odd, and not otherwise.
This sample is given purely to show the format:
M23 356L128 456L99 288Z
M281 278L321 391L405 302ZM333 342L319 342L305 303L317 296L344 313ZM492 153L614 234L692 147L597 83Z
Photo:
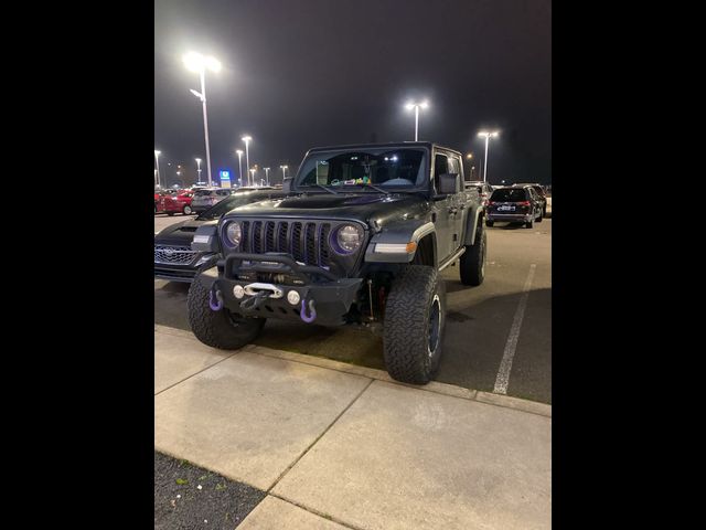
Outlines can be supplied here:
M206 346L237 350L260 335L265 318L246 318L226 308L214 311L208 306L211 280L196 275L186 298L189 324L196 338Z

